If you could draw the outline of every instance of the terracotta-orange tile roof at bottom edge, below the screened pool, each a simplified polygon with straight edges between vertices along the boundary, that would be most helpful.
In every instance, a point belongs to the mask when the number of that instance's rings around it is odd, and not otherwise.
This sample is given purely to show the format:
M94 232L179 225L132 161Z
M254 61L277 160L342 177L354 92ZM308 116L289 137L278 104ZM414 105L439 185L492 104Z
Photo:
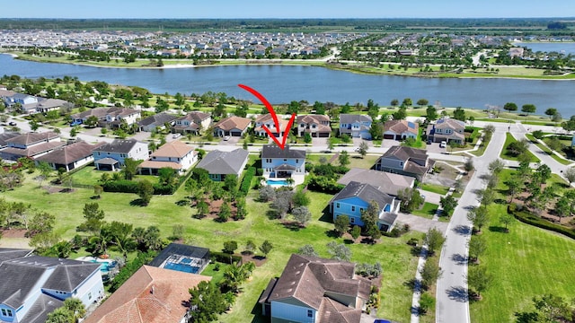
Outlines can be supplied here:
M141 266L84 323L187 322L190 288L211 280L205 275Z

